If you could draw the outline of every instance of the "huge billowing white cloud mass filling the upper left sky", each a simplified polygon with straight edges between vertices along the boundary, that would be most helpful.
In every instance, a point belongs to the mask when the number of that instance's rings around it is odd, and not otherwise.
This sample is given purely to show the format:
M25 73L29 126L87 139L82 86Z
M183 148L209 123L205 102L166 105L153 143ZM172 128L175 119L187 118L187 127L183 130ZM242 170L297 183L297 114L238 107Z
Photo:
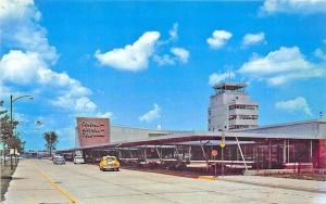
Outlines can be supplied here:
M66 73L50 68L58 53L48 42L47 30L39 25L40 17L33 0L1 0L1 46L10 50L0 58L1 95L23 86L24 91L50 99L50 104L73 112L95 111L97 105L89 99L91 90Z

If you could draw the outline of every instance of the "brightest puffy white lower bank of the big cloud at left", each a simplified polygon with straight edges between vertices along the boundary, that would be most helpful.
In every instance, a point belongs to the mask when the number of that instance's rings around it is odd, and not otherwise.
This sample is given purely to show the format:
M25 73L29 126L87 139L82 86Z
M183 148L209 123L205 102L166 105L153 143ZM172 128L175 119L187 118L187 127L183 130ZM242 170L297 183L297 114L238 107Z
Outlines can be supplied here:
M97 105L86 95L91 91L82 84L71 78L65 73L55 73L48 68L48 64L42 61L36 52L22 52L11 50L4 54L0 61L0 79L3 82L16 85L47 85L52 87L58 97L52 100L52 104L82 111L95 111Z

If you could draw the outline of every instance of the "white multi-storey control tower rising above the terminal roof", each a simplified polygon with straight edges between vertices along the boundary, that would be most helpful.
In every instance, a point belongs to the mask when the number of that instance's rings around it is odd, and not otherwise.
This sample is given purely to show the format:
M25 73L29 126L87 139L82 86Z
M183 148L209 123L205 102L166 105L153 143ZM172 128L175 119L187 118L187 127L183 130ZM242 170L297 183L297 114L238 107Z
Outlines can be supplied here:
M209 131L236 130L258 126L258 103L244 92L244 82L222 82L210 97Z

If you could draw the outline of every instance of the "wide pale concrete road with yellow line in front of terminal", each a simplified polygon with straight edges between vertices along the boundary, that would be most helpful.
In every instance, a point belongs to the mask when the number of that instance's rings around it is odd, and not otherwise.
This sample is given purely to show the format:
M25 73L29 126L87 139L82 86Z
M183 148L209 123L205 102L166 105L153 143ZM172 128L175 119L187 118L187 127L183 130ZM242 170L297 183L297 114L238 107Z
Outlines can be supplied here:
M26 160L20 163L4 203L326 203L326 182L241 176L225 179L127 169L100 171L93 165Z

